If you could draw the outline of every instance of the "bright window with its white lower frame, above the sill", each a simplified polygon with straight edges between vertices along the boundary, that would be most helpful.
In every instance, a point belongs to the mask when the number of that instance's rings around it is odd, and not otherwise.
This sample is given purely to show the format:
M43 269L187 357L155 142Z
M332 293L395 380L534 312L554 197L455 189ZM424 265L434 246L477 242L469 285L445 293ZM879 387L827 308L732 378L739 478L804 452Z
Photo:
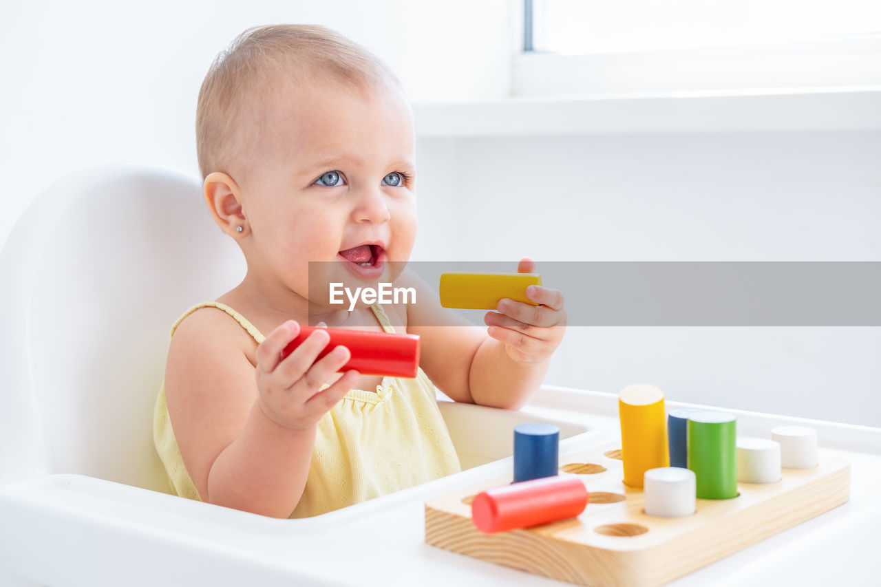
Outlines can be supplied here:
M515 95L881 85L877 0L525 0L524 18Z

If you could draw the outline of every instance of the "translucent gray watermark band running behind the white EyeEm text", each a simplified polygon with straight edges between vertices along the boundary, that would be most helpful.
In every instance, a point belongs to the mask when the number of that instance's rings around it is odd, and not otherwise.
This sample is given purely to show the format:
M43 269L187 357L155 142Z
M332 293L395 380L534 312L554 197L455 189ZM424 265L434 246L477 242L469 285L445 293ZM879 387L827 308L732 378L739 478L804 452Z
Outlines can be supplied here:
M356 276L344 263L310 263L310 312L367 308L373 298L350 302L340 287L412 288L415 300L386 298L407 316L441 316L437 303L446 272L514 273L516 262L386 263L382 275ZM544 287L566 300L570 326L841 327L881 326L881 262L537 262ZM330 304L329 284L337 283ZM391 289L389 289L391 288ZM492 286L486 286L492 294ZM378 301L378 300L376 300ZM483 324L486 311L451 309ZM400 311L389 312L389 317ZM447 315L448 316L448 315ZM321 318L316 318L317 322ZM393 317L400 325L405 318ZM446 325L440 317L420 325Z

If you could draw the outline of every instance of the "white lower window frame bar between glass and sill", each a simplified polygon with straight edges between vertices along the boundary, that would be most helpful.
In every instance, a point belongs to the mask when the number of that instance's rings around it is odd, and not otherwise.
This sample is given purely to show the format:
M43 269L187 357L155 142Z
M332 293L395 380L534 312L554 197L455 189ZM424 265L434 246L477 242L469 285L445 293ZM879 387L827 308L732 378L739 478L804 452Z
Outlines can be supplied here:
M515 57L513 95L734 92L881 85L881 35L743 47Z

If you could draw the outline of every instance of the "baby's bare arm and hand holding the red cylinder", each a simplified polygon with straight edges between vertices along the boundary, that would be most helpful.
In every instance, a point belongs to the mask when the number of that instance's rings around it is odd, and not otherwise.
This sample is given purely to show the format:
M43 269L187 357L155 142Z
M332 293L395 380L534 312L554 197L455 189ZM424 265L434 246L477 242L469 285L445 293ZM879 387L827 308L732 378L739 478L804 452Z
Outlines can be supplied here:
M357 380L349 371L328 389L350 353L315 331L293 353L279 353L299 326L279 326L254 341L226 314L203 310L174 333L166 398L174 435L204 502L287 517L300 502L317 421Z

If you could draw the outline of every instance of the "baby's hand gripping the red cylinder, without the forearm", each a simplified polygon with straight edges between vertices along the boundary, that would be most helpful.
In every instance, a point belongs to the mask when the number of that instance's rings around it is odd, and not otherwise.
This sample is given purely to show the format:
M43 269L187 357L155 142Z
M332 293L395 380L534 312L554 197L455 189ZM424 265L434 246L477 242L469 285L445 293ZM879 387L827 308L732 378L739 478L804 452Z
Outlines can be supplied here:
M283 360L279 360L285 346L297 337L300 324L288 320L257 346L257 390L260 407L266 416L279 426L292 430L314 427L325 412L337 404L352 389L359 372L346 371L326 390L322 384L329 381L352 356L345 346L316 361L318 354L330 342L330 335L315 329L306 340Z

